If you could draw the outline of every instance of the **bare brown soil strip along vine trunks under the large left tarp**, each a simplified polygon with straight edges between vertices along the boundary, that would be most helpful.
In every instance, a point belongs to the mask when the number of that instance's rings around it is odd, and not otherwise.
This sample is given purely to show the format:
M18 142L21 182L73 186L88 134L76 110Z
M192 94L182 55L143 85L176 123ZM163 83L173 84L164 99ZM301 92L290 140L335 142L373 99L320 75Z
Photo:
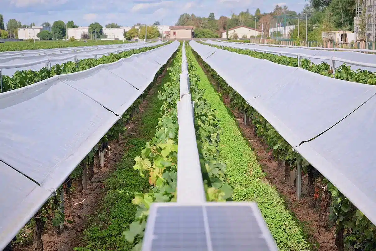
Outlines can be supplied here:
M171 62L171 61L170 61ZM166 68L167 69L167 68ZM158 90L159 84L161 84L162 78L167 73L164 70L161 76L158 77L156 83L149 91L147 97L139 105L139 112L133 117L126 125L127 135L134 135L137 132L137 124L139 123L141 116L147 106L150 97ZM71 193L72 198L72 216L67 216L67 219L73 221L73 224L65 222L64 231L59 234L53 232L52 224L48 224L45 227L42 241L44 251L72 251L74 247L80 246L82 242L82 232L85 230L88 223L88 216L95 213L99 208L102 198L106 195L105 185L103 181L116 169L118 161L121 160L126 148L126 135L121 135L119 141L112 141L109 144L109 149L105 153L105 166L102 169L99 165L99 161L96 160L94 167L94 177L88 183L88 189L82 193L76 191ZM77 187L76 183L73 187ZM34 250L33 245L27 246L15 246L15 251L30 251Z

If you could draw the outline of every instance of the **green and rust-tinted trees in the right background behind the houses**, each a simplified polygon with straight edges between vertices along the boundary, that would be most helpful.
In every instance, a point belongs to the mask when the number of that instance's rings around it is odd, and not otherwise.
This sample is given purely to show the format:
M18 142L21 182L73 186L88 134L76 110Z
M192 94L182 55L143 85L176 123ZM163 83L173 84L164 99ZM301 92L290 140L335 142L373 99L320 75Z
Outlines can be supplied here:
M295 12L288 9L288 6L276 5L271 12L261 13L256 9L255 13L250 13L249 9L241 11L238 14L230 13L231 17L224 15L218 19L214 13L208 17L198 17L195 14L184 13L180 15L176 25L194 26L195 37L197 38L215 38L222 37L223 32L231 38L228 30L237 26L247 26L262 30L264 38L270 38L280 35L280 32L270 34L270 29L277 26L295 25L295 29L290 32L290 38L293 40L306 40L306 14L308 19L308 40L322 41L322 32L327 30L354 31L354 17L356 14L355 0L306 0L301 12ZM362 2L363 0L361 0ZM298 18L300 20L300 34L298 37Z

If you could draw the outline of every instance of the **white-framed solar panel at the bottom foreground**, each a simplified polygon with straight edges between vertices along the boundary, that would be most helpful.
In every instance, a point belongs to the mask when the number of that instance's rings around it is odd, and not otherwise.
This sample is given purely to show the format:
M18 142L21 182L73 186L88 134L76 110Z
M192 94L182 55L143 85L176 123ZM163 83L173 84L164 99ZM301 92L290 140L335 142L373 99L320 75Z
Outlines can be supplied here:
M143 251L274 251L273 237L253 202L202 205L153 203Z

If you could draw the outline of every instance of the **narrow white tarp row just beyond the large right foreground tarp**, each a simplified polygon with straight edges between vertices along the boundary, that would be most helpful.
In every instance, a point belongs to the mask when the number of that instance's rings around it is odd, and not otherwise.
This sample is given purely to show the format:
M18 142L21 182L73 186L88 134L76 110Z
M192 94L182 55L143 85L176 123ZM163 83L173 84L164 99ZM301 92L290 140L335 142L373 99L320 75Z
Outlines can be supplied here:
M239 49L249 49L249 50L257 50L258 52L265 52L290 56L290 57L297 57L299 54L302 55L302 58L309 59L314 64L321 64L322 62L326 62L327 64L331 65L332 60L331 58L334 57L338 60L336 63L336 67L340 66L343 62L341 59L346 62L346 64L350 65L352 70L368 70L368 71L376 71L376 67L367 67L367 66L358 66L350 61L364 63L364 64L376 64L376 55L374 54L367 54L361 52L350 52L350 51L331 51L331 50L312 50L312 49L305 49L305 48L289 48L289 47L272 47L272 46L262 46L262 45L255 45L255 44L244 44L244 43L229 43L229 42L220 42L220 41L212 41L207 40L206 43L208 44L216 44L221 46L230 46ZM320 59L319 57L325 57L326 59ZM376 66L376 65L375 65Z

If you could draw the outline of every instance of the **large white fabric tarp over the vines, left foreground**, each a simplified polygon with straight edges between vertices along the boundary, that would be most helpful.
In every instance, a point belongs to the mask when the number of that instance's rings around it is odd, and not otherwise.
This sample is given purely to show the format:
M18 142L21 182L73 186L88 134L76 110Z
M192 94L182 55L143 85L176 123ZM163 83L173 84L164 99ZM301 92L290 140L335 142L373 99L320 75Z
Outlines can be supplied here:
M167 61L177 47L175 41L150 51L150 59L133 57L145 76L152 75L140 79L141 86L162 67L148 68L153 53ZM133 76L106 69L132 68L127 60L0 94L0 216L9 219L0 221L0 250L142 93L127 81Z

